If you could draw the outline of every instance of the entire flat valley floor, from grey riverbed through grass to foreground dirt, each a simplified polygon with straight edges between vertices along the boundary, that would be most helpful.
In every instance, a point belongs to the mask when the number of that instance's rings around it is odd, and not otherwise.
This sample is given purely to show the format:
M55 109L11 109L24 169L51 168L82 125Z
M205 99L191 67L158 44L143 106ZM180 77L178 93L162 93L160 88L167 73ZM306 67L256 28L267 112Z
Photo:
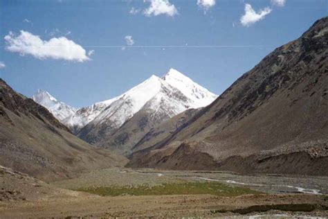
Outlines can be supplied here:
M0 218L44 218L44 217L226 217L249 218L261 215L275 218L289 216L328 215L328 177L302 177L286 175L236 175L233 173L206 171L167 171L129 168L109 168L83 173L78 178L66 179L51 184L33 181L26 175L3 174L1 186L10 187L15 177L21 185L33 182L32 189L39 197L0 200ZM217 195L196 194L143 195L150 188L160 185L192 185L192 191L212 189L219 185ZM199 185L201 185L199 187ZM9 186L9 187L8 187ZM13 185L15 188L20 184ZM136 188L140 195L129 195ZM235 189L231 190L231 186ZM14 187L12 187L14 188ZM19 190L19 187L17 187ZM24 187L25 188L25 187ZM46 189L45 189L46 188ZM124 188L124 189L122 189ZM215 187L216 188L216 187ZM3 188L6 190L6 188ZM53 189L53 191L51 191ZM100 196L80 192L113 190L125 191L117 196ZM99 189L99 190L97 190ZM107 190L106 190L107 189ZM188 189L188 188L187 188ZM198 190L197 190L198 189ZM227 191L225 191L227 189ZM27 191L28 188L26 187ZM73 191L72 191L73 190ZM26 191L16 191L24 196ZM239 191L242 193L234 193ZM159 193L158 193L159 192ZM220 192L224 193L222 195ZM227 192L227 193L226 193ZM10 193L10 191L8 191ZM0 197L1 198L1 197Z

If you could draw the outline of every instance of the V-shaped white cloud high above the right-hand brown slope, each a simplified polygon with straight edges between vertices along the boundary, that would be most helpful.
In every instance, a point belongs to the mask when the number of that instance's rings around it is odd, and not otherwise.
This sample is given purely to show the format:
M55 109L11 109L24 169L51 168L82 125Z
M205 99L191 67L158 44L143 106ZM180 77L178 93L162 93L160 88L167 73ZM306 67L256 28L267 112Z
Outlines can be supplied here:
M264 8L259 10L259 12L255 12L255 10L250 6L250 4L245 4L245 15L240 18L240 22L243 26L250 26L255 24L257 21L264 19L266 15L271 12L271 8Z

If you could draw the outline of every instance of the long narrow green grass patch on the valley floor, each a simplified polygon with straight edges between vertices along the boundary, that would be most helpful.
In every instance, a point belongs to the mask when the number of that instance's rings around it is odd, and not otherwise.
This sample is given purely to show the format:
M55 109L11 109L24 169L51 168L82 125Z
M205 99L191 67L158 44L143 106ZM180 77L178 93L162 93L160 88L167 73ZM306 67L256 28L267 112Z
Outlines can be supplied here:
M186 183L167 183L158 186L108 186L108 187L89 187L78 189L87 193L102 196L118 195L196 195L210 194L219 196L237 196L244 194L259 194L258 191L242 187L232 187L218 182L186 182Z

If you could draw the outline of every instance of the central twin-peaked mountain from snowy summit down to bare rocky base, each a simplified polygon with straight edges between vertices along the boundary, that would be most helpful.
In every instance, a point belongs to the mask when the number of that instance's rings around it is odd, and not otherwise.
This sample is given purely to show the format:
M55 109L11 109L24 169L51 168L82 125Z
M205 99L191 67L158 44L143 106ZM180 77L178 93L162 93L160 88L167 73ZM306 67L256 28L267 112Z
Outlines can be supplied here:
M129 154L144 134L186 109L204 107L217 96L179 71L152 76L118 97L78 133L89 143Z

